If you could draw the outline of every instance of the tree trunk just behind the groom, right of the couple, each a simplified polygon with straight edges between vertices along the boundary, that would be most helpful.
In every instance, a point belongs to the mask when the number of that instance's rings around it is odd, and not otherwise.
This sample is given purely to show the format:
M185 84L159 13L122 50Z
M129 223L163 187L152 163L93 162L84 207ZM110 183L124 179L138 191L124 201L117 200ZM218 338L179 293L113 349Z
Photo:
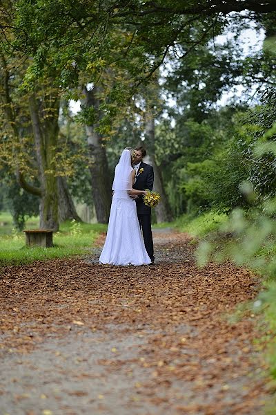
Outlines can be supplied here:
M146 136L148 137L148 140L150 142L150 147L154 149L155 120L151 114L148 115L148 120L146 122ZM154 183L153 190L158 192L161 196L161 200L155 208L157 223L170 222L172 221L172 214L170 211L170 205L168 204L168 198L164 190L164 184L163 184L163 180L161 176L161 169L157 165L156 160L155 160L154 150L150 154L150 161L155 172L155 183Z

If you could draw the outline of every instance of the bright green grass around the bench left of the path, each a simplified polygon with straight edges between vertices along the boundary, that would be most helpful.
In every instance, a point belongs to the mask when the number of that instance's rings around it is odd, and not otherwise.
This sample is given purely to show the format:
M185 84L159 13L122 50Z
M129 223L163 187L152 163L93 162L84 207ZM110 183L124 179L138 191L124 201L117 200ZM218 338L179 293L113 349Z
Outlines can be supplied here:
M61 223L59 232L53 234L52 248L28 248L25 234L17 232L12 226L10 214L0 214L0 265L28 264L32 261L82 255L92 248L100 232L106 231L107 225L101 223ZM4 224L3 224L4 223ZM38 218L30 218L26 229L39 227Z

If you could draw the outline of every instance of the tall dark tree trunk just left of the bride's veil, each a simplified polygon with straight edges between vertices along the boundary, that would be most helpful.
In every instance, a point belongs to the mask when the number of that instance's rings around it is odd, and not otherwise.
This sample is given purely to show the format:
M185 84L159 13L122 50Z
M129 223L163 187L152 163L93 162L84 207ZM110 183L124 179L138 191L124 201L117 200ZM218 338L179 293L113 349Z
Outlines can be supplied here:
M86 100L83 100L83 106L94 107L99 111L99 98L97 97L98 87L90 91L84 89ZM111 204L111 181L108 172L108 160L106 158L106 148L102 145L101 136L95 131L95 125L86 125L86 136L90 154L90 173L92 176L92 197L95 203L97 221L99 223L108 223Z

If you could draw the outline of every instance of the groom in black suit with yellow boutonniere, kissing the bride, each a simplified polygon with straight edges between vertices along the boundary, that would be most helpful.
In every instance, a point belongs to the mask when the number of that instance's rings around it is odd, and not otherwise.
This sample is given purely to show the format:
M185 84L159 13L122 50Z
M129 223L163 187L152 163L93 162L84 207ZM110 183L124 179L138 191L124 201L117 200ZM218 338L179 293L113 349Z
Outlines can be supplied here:
M146 149L144 147L135 148L135 159L132 167L136 170L136 181L133 188L136 190L152 190L154 174L152 166L144 163L143 158L146 156ZM151 259L151 264L155 263L153 255L153 241L151 232L151 208L146 206L142 196L134 196L136 201L137 216L139 225L142 228L144 243L148 256Z

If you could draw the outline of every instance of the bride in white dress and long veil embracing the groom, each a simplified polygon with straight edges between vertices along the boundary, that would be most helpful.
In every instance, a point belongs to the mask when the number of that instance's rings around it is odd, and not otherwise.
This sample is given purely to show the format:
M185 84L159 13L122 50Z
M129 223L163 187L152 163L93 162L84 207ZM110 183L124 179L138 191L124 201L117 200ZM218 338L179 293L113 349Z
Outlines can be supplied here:
M150 264L139 227L136 203L130 199L130 195L148 192L132 189L135 183L135 169L131 166L132 152L132 149L124 149L115 168L108 232L99 257L100 264Z

